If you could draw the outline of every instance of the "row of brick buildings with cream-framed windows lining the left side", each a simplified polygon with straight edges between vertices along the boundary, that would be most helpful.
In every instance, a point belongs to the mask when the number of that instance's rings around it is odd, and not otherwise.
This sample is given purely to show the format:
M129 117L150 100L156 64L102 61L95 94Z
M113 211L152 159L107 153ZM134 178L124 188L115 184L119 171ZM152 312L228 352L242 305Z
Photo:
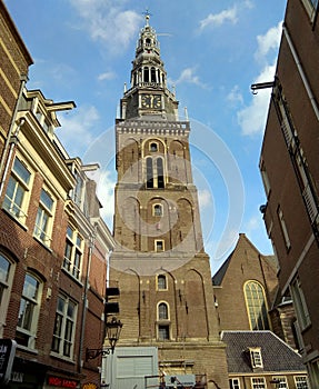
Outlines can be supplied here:
M86 349L103 343L113 247L87 176L98 166L69 158L54 130L74 103L26 89L32 60L2 1L0 16L0 342L17 343L0 386L98 388L101 360Z

